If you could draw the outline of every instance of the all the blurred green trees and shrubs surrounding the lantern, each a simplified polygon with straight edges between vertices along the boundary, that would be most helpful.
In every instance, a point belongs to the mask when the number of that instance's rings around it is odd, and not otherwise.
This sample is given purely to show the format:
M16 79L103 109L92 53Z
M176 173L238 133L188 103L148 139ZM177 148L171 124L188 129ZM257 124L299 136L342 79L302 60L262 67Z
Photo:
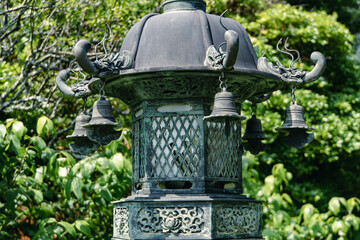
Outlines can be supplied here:
M0 3L0 239L110 239L111 201L130 193L128 107L111 99L122 137L87 158L68 152L82 102L56 89L79 39L101 41L108 23L119 50L130 27L160 0L4 0ZM322 52L328 67L297 90L315 139L285 145L281 126L290 89L258 106L267 150L243 158L245 193L264 201L266 239L360 239L360 3L357 0L208 0L209 13L239 21L258 56L287 63L276 43L289 37L297 68ZM104 49L101 49L102 53ZM101 53L100 53L101 54ZM94 57L94 55L92 55ZM76 77L72 80L76 81ZM88 106L96 100L88 102ZM250 103L243 103L250 115Z

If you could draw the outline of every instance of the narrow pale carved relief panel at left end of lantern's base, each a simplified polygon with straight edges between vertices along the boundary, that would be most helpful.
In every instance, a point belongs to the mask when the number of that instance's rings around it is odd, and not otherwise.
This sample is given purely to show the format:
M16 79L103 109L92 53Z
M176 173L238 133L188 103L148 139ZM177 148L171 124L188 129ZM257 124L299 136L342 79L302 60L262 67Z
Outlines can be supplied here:
M114 209L114 237L129 237L129 210L126 207Z

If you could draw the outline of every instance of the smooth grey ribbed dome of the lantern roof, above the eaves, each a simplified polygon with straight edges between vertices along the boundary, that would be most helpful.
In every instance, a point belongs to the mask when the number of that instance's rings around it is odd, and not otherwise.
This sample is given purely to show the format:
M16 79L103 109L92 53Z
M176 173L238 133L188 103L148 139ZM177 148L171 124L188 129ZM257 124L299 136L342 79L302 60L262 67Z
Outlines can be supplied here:
M148 14L135 24L121 48L121 52L133 54L133 70L210 69L204 64L206 52L224 42L226 29L220 24L220 16L205 13L201 3L167 1L163 14ZM257 57L245 29L230 18L222 18L222 23L239 35L234 70L256 71Z

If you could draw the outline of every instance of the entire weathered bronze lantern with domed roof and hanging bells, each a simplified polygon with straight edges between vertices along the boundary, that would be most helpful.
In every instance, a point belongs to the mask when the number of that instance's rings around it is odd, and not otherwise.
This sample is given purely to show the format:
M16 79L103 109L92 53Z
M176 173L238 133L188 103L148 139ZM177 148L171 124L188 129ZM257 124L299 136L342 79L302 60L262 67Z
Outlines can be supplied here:
M168 0L162 7L163 13L145 15L128 31L119 52L100 60L88 58L89 41L76 43L75 59L89 81L68 86L67 70L56 79L65 95L100 90L131 110L132 194L114 202L112 239L263 239L261 202L241 195L245 117L235 104L316 80L325 58L314 52L308 73L276 66L258 59L240 23L206 13L203 0ZM107 144L118 135L113 138L115 122L104 101L84 126ZM105 126L111 133L100 130ZM254 135L259 126L254 129L245 133L247 141L263 138Z

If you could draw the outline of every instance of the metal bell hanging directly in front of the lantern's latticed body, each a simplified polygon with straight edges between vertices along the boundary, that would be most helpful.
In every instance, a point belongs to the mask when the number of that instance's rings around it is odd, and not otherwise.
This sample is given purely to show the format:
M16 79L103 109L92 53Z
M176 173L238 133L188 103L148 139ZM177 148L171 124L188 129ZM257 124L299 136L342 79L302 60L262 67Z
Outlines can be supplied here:
M209 116L204 120L223 122L223 121L242 121L246 117L238 114L235 108L234 95L222 89L215 95L214 108Z

